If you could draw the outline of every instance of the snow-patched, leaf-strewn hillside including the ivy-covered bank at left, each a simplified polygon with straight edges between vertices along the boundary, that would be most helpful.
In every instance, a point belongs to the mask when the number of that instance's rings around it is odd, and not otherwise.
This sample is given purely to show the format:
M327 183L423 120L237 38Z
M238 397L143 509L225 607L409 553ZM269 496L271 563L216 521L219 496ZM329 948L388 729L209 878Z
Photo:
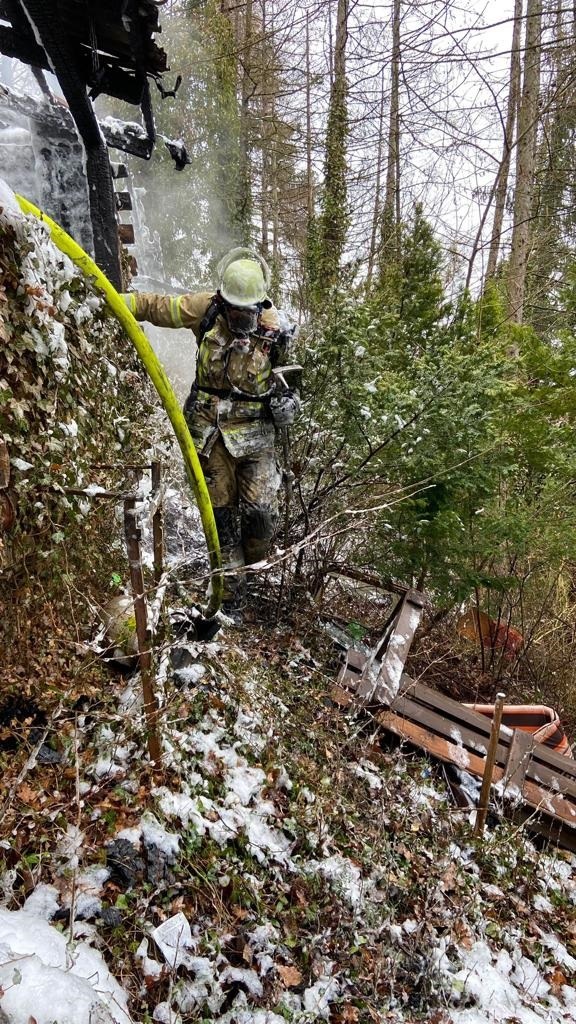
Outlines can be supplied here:
M2 1024L576 1021L574 858L497 816L475 841L438 766L333 708L312 605L202 645L171 563L153 769L137 674L85 645L126 568L94 463L141 461L152 406L99 300L0 206Z

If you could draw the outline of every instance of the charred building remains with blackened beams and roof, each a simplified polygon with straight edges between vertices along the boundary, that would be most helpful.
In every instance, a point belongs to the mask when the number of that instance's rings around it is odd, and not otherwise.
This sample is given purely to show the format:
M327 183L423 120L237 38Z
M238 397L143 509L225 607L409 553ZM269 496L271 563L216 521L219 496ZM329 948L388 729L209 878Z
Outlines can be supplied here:
M156 129L150 83L164 95L164 50L155 0L0 0L0 53L29 65L44 100L0 89L0 103L11 111L4 128L7 144L20 145L23 180L31 162L39 201L120 287L118 210L129 198L114 188L108 146L150 159ZM44 72L52 72L66 103L50 95ZM173 90L172 90L173 91ZM98 124L92 100L114 96L139 108L141 127ZM12 123L10 124L10 117ZM27 118L29 137L22 135ZM18 135L18 130L20 134ZM167 142L170 147L170 143ZM186 152L174 155L183 166ZM89 209L89 219L82 210Z

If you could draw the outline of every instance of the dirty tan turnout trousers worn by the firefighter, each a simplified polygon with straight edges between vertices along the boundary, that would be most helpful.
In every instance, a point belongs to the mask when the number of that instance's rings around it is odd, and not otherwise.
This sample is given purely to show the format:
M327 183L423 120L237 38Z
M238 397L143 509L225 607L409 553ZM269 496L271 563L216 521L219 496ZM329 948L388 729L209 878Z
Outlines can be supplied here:
M273 447L234 458L221 437L201 456L214 508L225 568L224 600L240 596L245 581L239 570L265 558L278 521L282 473Z

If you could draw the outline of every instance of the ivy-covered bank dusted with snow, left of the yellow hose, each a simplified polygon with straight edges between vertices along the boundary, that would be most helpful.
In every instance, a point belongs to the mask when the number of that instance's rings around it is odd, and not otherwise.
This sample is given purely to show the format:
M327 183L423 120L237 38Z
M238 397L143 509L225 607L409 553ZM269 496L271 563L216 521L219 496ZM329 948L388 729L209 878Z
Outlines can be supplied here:
M94 489L122 483L121 470L101 464L147 461L152 411L146 375L104 300L0 182L0 572L8 584L23 566L40 572L61 560L79 534L86 543Z

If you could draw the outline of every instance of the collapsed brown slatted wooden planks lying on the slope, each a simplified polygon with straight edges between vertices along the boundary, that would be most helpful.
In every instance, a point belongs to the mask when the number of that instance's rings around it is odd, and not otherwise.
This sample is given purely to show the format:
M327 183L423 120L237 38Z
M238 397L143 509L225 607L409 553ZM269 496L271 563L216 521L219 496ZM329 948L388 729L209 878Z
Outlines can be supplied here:
M414 632L418 595L408 592L395 609L383 640L369 654L351 649L342 665L332 698L344 708L371 715L382 728L425 751L440 761L456 765L482 778L491 722L457 700L402 674L390 700L389 644L393 653L407 652ZM406 606L408 605L408 606ZM407 624L408 633L407 636ZM395 644L395 632L400 641ZM416 624L417 625L417 624ZM393 658L394 675L398 663ZM508 726L500 728L493 781L504 814L576 852L576 762L557 754L534 737Z

